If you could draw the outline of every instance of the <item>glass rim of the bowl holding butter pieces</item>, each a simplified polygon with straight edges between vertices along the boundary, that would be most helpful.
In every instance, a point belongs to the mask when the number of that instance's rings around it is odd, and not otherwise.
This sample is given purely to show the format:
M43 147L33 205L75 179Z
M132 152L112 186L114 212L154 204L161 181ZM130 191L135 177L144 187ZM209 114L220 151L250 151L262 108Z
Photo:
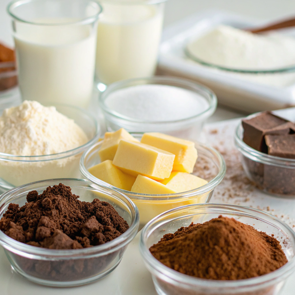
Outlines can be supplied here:
M201 186L200 188L197 188L197 189L193 189L191 191L186 191L183 193L175 193L175 194L139 194L139 193L134 193L131 191L119 189L115 186L112 186L111 184L108 184L108 183L100 180L99 178L94 177L86 169L86 167L84 165L84 160L87 157L88 153L90 153L91 150L96 149L98 145L102 144L102 141L96 142L94 145L89 147L89 149L83 153L83 155L81 156L81 159L80 159L80 172L90 182L95 183L96 185L104 187L104 188L109 188L109 189L112 189L115 191L119 191L122 194L126 194L127 196L129 196L129 198L131 198L132 200L136 200L136 201L139 201L139 200L163 201L165 199L166 200L174 200L174 199L189 198L192 196L196 196L196 194L198 194L197 197L199 197L199 196L213 190L222 181L222 179L224 178L225 173L226 173L226 164L225 164L224 158L217 150L215 150L214 148L212 148L209 145L205 145L205 144L202 144L199 142L196 142L196 143L198 145L200 145L202 148L204 148L207 151L209 151L210 153L212 153L215 157L217 157L217 159L219 161L220 168L219 168L217 175L212 180L210 180L204 186Z

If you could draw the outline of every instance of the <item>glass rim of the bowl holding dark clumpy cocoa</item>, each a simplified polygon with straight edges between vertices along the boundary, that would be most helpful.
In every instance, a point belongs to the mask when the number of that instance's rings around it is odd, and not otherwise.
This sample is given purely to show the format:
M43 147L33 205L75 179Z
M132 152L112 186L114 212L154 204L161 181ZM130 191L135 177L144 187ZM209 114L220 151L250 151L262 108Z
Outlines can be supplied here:
M35 247L32 245L27 245L22 242L18 242L17 240L12 239L11 237L7 236L4 232L0 230L0 243L1 245L6 249L14 249L18 253L26 253L29 255L40 257L58 257L60 259L67 259L67 258L73 258L73 257L80 257L83 256L89 256L89 255L106 255L108 253L114 252L117 249L120 249L127 245L134 237L134 230L139 225L139 211L136 205L130 200L127 196L124 194L111 190L109 188L102 188L98 185L95 185L91 181L88 181L87 179L78 179L78 178L53 178L53 179L46 179L41 181L35 181L31 183L24 184L22 186L15 187L13 189L10 189L9 191L6 191L0 196L0 208L2 206L3 200L7 198L7 196L11 194L17 194L19 191L29 191L29 187L40 184L49 181L55 181L55 183L63 182L63 181L74 181L81 183L81 186L79 186L80 189L98 189L99 191L103 191L104 194L108 195L110 192L115 193L119 195L124 200L124 204L130 209L131 212L134 212L134 218L131 221L130 227L126 230L126 232L122 233L119 237L115 238L112 241L106 242L101 245L89 247L89 248L82 248L82 249L47 249L47 248L41 248L41 247ZM86 184L89 185L89 187L86 187ZM50 184L48 184L49 186ZM34 188L36 189L36 188ZM15 195L14 195L15 196ZM7 200L7 202L9 202ZM137 232L137 231L136 231ZM13 251L12 251L13 252ZM36 258L34 258L36 259ZM50 260L50 259L49 259Z

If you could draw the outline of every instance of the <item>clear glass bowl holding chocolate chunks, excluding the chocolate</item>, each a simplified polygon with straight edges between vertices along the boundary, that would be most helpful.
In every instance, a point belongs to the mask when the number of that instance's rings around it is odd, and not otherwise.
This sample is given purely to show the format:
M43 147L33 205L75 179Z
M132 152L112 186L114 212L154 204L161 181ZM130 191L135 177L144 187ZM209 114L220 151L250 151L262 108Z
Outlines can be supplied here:
M240 160L247 177L258 189L269 194L295 196L295 159L271 156L251 148L243 141L243 133L240 123L235 132L235 146L240 152Z

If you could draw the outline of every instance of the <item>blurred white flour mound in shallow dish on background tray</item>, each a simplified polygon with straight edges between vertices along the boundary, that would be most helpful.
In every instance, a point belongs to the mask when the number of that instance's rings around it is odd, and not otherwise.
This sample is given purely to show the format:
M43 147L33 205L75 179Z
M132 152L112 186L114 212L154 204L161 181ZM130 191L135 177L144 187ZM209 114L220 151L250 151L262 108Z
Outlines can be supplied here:
M187 50L202 61L227 68L263 70L295 64L294 38L224 25L189 42Z

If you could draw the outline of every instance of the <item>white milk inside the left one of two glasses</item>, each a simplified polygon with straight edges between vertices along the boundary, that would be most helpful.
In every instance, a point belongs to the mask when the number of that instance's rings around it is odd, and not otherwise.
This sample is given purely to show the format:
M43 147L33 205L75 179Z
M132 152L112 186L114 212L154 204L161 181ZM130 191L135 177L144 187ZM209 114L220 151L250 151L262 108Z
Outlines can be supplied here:
M19 24L14 41L23 100L87 107L96 50L90 26Z

